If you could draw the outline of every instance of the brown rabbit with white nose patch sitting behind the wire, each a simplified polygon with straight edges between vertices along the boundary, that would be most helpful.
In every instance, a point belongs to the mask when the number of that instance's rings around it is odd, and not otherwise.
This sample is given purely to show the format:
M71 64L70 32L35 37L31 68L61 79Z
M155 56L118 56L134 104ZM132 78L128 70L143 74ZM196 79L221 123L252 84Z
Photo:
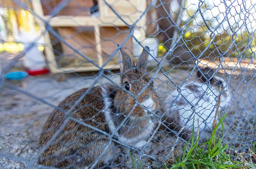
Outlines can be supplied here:
M119 45L117 46L119 48ZM147 46L145 48L149 51ZM115 136L126 145L142 147L146 144L145 139L150 136L154 128L154 116L138 105L131 112L136 103L134 97L127 91L137 96L151 79L151 76L146 73L148 53L144 49L136 65L132 63L129 55L122 49L118 51L118 58L122 73L120 85L126 91L117 88L114 84L93 87L70 113L70 116L112 134L130 114ZM87 88L81 89L71 94L59 104L59 107L68 111L86 90ZM154 91L153 82L150 82L137 100L147 110L153 113L158 112L159 98ZM53 111L40 136L41 147L48 143L65 119L64 113L59 110ZM90 167L103 153L108 143L108 136L74 120L69 120L60 134L41 154L39 164L57 168ZM96 167L102 166L113 156L113 148L112 143Z

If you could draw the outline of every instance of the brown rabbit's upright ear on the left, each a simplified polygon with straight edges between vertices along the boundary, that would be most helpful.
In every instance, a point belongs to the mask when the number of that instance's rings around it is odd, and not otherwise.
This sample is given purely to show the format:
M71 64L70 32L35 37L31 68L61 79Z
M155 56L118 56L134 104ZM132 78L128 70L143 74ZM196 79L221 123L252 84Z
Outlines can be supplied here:
M119 44L116 44L117 48L120 48ZM125 73L129 71L130 69L133 69L133 64L131 61L130 56L123 50L119 49L117 53L119 63L120 63L120 71L121 73Z

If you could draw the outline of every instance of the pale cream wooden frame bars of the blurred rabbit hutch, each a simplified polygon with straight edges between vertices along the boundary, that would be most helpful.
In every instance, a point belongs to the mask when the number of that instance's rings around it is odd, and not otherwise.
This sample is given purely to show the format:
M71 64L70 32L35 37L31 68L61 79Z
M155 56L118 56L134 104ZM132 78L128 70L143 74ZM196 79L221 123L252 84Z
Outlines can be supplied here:
M132 16L129 17L122 17L128 24L132 24L134 21L136 21L139 16L142 15L142 13L146 9L146 1L143 0L121 0L120 3L116 3L115 0L106 0L109 4L114 4L113 8L121 13L122 16L125 16L125 12L133 12ZM118 1L119 2L119 1ZM133 7L127 7L126 3L132 3ZM98 0L98 6L99 6L99 17L94 16L45 16L41 4L41 0L32 0L32 6L35 11L35 13L41 17L42 19L49 21L49 24L53 27L78 27L78 26L91 26L94 28L94 37L95 37L95 44L96 50L97 50L97 64L99 67L101 67L104 63L103 57L101 55L102 53L102 44L100 43L100 36L101 34L104 34L104 32L100 32L101 27L113 27L113 26L127 26L120 18L118 18L111 9L105 4L103 0ZM134 6L136 8L134 8ZM136 10L134 12L134 10ZM45 25L44 23L37 18L38 25L40 27L41 31L45 31ZM145 26L146 17L143 16L138 23L136 24L139 27ZM143 29L140 29L141 37L140 41L144 40L145 38L145 31ZM97 71L99 68L95 67L94 65L88 65L88 66L81 66L81 67L62 67L59 68L57 65L57 62L55 60L55 54L53 51L53 46L51 43L50 35L49 33L44 34L44 40L45 40L45 57L48 61L49 69L52 73L61 73L61 72L85 72L85 71ZM119 69L118 64L107 64L104 69Z

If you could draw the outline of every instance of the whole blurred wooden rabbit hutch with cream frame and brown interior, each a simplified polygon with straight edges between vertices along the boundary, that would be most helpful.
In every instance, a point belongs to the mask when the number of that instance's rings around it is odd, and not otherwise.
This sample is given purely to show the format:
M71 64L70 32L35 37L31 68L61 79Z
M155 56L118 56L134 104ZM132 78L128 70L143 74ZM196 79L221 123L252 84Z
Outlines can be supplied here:
M132 25L146 8L143 0L106 0L121 18ZM57 39L61 49L54 46L55 40L50 33L44 34L45 56L52 73L96 71L84 55L102 67L105 61L116 50L116 43L123 43L129 35L129 27L122 21L103 0L71 0L65 7L52 16L55 7L61 0L32 0L34 11L54 28L64 41ZM55 10L54 10L55 9ZM38 19L43 32L44 23ZM142 17L136 26L145 26L146 18ZM145 32L140 29L140 40ZM67 42L67 43L66 43ZM132 55L132 37L124 44L124 49ZM72 47L71 47L72 46ZM72 49L73 48L73 49ZM119 69L117 56L112 58L104 69Z

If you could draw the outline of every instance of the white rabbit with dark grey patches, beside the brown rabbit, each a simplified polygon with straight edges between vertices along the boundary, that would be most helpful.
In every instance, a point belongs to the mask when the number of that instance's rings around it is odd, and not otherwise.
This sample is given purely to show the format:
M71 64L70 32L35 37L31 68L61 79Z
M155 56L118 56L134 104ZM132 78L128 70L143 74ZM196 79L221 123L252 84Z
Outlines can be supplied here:
M182 134L184 135L185 139L188 135L191 134L194 115L195 133L197 133L198 127L200 132L202 132L202 130L209 131L213 127L213 121L219 96L219 106L222 109L227 108L231 101L231 94L227 88L225 80L217 75L211 78L214 75L213 69L208 67L200 69L203 73L201 73L199 70L197 71L196 81L185 83L181 87L180 93L183 96L179 94L177 90L175 90L171 92L170 95L168 95L165 101L165 125L167 125L171 130L177 131L185 126L182 130ZM209 87L208 80L210 82ZM195 107L193 112L191 107L194 105ZM193 115L190 116L191 114Z

